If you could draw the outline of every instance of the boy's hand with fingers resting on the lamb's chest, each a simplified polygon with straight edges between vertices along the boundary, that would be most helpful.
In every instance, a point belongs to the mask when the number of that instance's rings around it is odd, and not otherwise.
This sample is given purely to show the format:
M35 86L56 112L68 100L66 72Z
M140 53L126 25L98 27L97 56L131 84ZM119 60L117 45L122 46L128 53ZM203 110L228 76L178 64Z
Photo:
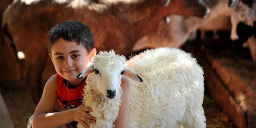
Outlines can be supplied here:
M75 120L81 125L84 126L84 128L89 128L89 126L86 123L95 123L96 118L92 117L89 112L92 112L92 109L90 107L85 107L83 104L81 104L79 107L75 108Z

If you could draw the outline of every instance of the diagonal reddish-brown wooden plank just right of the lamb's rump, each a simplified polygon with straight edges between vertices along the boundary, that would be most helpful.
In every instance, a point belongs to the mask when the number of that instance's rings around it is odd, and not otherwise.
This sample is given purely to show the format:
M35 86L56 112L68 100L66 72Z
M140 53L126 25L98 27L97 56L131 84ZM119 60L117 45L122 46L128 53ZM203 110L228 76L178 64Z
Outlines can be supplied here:
M225 112L230 114L233 123L238 128L247 128L245 112L243 112L218 76L212 71L209 64L204 60L203 55L197 55L198 62L204 69L205 85L208 87L211 96Z

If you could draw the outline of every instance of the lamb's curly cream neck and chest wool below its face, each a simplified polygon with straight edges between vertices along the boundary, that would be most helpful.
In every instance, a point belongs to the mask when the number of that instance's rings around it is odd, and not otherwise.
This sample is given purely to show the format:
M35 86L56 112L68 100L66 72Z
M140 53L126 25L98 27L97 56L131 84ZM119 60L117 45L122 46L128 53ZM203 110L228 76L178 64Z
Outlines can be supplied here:
M98 91L96 84L96 79L89 76L84 89L84 105L91 107L93 112L90 114L97 118L96 122L104 120L113 123L121 105L122 88L118 89L115 98L109 99Z

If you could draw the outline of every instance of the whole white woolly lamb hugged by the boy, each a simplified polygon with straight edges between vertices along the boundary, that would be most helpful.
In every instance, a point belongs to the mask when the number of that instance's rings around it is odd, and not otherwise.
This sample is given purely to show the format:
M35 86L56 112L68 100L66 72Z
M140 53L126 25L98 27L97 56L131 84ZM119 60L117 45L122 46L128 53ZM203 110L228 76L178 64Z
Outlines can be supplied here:
M123 75L131 78L128 128L206 127L203 70L190 53L157 48L126 62L124 56L113 50L100 52L94 64L78 78L88 74L83 104L91 107L90 114L97 117L96 123L88 124L90 128L113 128L121 102ZM138 82L141 78L143 82ZM107 90L116 91L115 97ZM78 128L83 126L78 123Z

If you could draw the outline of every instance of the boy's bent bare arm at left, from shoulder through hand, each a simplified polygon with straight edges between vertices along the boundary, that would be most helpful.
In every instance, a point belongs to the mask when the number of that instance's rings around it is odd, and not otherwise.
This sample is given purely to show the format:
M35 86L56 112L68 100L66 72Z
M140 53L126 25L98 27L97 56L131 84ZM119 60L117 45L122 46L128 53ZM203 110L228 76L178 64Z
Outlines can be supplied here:
M78 108L65 110L62 112L54 112L54 107L57 101L57 81L56 75L53 75L45 84L41 100L37 104L32 126L33 128L56 128L68 124L73 121L82 123L87 127L84 122L93 123L95 120L86 112L91 109L80 105Z

